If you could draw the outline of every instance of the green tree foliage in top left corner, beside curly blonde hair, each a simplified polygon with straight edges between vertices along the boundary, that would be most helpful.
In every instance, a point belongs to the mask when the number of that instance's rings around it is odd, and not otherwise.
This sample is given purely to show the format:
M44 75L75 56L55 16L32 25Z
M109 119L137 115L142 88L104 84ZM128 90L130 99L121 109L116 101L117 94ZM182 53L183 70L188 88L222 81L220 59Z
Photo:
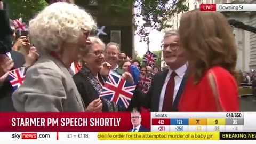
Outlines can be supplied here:
M5 2L9 7L10 18L22 18L22 22L28 22L47 6L45 0L11 0Z

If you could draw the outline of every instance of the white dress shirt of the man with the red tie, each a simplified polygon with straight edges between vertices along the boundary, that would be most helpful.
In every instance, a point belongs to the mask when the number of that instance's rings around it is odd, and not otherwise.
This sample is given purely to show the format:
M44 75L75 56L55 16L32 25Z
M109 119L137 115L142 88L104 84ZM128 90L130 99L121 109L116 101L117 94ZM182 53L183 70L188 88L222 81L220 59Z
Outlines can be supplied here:
M175 87L174 87L174 92L173 92L173 101L172 101L172 103L174 102L174 100L176 98L177 92L180 88L180 84L182 82L182 79L185 75L186 70L187 70L186 65L183 65L180 68L178 68L177 70L175 70L175 73L177 73L177 75L174 77ZM165 89L166 89L167 83L170 79L172 71L173 70L171 70L169 68L168 74L167 74L167 76L165 78L165 81L164 81L164 85L163 85L163 88L162 88L162 91L161 91L161 94L160 94L160 99L159 99L159 108L158 108L159 111L162 111L162 108L163 108Z

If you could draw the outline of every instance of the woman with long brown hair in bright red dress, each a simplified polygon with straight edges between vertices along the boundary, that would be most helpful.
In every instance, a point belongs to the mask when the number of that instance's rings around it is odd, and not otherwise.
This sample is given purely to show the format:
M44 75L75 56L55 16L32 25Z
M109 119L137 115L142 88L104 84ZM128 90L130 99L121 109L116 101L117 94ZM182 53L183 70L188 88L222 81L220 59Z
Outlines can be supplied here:
M188 59L179 111L239 111L237 46L226 18L193 10L182 14L179 33Z

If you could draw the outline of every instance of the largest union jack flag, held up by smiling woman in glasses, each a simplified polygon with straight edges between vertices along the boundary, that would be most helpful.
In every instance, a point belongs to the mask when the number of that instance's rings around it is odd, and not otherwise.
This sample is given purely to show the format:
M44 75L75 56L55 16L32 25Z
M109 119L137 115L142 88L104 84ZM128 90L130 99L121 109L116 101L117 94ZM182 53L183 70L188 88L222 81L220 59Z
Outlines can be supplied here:
M124 78L111 71L100 97L127 108L133 97L135 87L136 85L126 82Z

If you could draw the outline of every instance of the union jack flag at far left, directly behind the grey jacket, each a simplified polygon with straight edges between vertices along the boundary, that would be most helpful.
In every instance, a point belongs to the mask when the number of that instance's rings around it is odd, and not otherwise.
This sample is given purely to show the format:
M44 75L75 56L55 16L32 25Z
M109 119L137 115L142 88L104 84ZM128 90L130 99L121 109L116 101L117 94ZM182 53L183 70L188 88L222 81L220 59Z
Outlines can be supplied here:
M23 81L25 79L25 67L9 71L7 78L9 79L13 90L18 89L23 84Z

